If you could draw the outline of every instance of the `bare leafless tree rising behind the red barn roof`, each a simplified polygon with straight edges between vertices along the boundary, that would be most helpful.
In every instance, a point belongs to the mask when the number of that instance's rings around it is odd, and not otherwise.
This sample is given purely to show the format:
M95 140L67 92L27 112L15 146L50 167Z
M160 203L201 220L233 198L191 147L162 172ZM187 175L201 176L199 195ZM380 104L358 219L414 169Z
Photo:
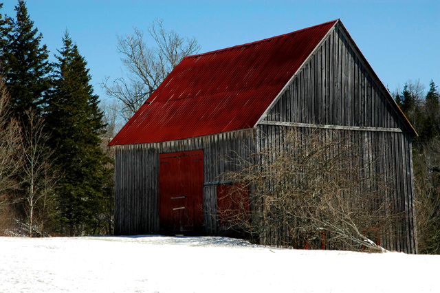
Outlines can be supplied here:
M107 95L122 103L125 120L133 116L181 59L200 49L194 38L182 38L174 30L165 30L162 20L156 19L148 34L155 47L146 45L144 32L138 28L134 28L133 35L118 36L116 47L129 73L115 79L112 85L108 85L109 78L102 83Z

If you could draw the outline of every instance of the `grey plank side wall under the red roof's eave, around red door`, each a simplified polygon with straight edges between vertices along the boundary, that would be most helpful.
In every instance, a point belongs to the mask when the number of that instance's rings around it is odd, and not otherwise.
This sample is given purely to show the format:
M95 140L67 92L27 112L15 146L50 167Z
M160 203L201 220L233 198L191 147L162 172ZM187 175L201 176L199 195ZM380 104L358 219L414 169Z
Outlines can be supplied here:
M115 146L115 234L159 232L159 153L197 149L203 149L203 220L206 234L215 234L219 175L236 169L235 164L224 160L225 155L248 157L254 152L254 133L250 129L173 142Z

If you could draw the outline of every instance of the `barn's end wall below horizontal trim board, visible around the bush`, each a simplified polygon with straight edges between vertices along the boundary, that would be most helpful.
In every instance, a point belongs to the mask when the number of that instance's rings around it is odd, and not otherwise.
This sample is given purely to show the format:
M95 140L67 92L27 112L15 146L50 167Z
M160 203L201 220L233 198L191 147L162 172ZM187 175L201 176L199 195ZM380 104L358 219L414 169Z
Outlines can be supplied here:
M257 138L258 147L264 150L275 147L285 151L279 144L287 127L278 125L259 125ZM380 232L382 246L388 250L397 250L407 253L416 252L414 200L412 198L412 177L410 159L410 138L401 132L381 131L352 131L341 129L314 129L309 127L296 127L303 139L310 137L314 131L326 131L329 137L334 135L349 138L349 142L359 146L360 156L358 164L368 166L364 172L366 177L379 175L388 188L389 202L393 203L393 211L399 214L399 224L393 228ZM281 138L281 139L278 139ZM274 144L273 142L277 142ZM261 242L265 245L279 245L288 243L287 232L283 230L267 230L261 235Z

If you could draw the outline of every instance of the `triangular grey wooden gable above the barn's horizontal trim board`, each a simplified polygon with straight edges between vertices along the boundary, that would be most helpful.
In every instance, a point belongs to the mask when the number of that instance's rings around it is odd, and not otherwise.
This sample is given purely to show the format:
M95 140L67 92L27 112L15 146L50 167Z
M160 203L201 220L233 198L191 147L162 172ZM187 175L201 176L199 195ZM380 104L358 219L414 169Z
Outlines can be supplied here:
M380 80L336 25L265 120L404 129L398 111Z

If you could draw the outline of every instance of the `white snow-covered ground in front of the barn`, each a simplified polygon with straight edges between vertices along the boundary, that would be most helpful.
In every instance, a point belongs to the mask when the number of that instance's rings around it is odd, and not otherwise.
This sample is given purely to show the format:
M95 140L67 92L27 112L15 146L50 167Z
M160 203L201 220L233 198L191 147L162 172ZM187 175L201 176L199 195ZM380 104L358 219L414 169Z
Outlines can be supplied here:
M440 292L440 256L222 237L0 237L0 292Z

